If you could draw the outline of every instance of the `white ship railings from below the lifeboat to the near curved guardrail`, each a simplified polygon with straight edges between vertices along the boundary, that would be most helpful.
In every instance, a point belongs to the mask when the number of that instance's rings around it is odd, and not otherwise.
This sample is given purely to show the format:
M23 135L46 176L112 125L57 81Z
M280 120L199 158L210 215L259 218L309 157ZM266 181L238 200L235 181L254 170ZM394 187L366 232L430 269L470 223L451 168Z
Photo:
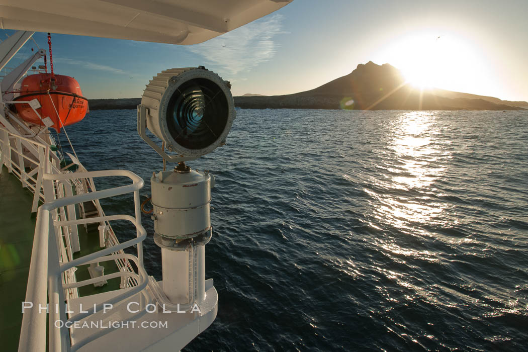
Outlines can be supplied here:
M22 186L33 193L32 211L36 211L39 202L45 202L44 204L46 205L46 207L41 206L39 208L39 213L37 213L37 226L35 227L30 277L26 289L26 301L44 302L42 303L44 305L47 297L46 288L53 287L54 289L53 291L50 290L49 296L50 307L54 307L54 305L51 305L52 300L53 302L61 302L61 305L63 305L62 302L64 301L79 297L79 287L117 277L121 278L120 288L133 288L131 291L128 291L127 297L142 290L148 282L146 273L143 269L143 246L142 244L138 244L145 238L145 230L140 224L139 207L139 188L143 186L143 180L134 173L126 170L88 172L86 168L76 160L76 158L70 156L72 157L72 160L76 161L75 164L78 165L77 172L72 173L68 170L71 165L66 165L61 168L61 158L51 150L49 144L46 144L45 142L43 143L42 139L41 141L35 139L36 138L15 134L0 126L0 167L5 165L7 171L15 175L21 181ZM117 187L105 191L97 191L93 178L109 176L127 176L133 180L134 184L124 186L132 187L130 189L127 188L128 190L122 187ZM75 196L73 195L73 189L76 191ZM99 202L100 198L130 192L134 192L135 217L129 215L107 216L103 212ZM77 219L75 205L83 204L84 202L93 202L97 209L96 217ZM45 216L47 220L44 221L42 215L39 215L41 212L47 214ZM110 221L114 220L128 220L133 223L136 226L136 238L124 243L119 243L110 224ZM101 226L106 226L104 228L105 233L103 234L103 243L101 244L101 247L106 246L106 249L83 256L82 258L73 259L75 245L72 242L74 242L75 239L78 241L78 225L89 223L99 223ZM42 234L43 231L45 231L45 234ZM55 236L49 236L49 233L52 233ZM48 240L44 240L43 236ZM49 243L52 243L50 241L53 239L55 239L54 243L56 246L50 247ZM137 258L133 255L125 254L123 251L124 248L135 244L138 244ZM77 244L77 246L79 246L79 244ZM50 251L50 255L48 255L49 250L54 251ZM77 248L77 250L79 250L79 248ZM52 255L52 253L56 254L56 257L55 255ZM118 267L118 272L77 282L75 271L77 270L78 265L109 260L114 260ZM136 264L139 274L134 271L131 262ZM56 267L57 265L60 266ZM43 270L43 268L45 269L46 267L48 268L48 271ZM59 274L57 274L57 272ZM41 281L43 278L48 277L48 273L50 273L49 282L44 282L46 285L44 286L44 289L42 289L43 283ZM51 275L51 273L54 274ZM62 289L57 289L57 287L60 288L61 285ZM52 297L52 294L55 296ZM44 295L43 300L42 295ZM125 297L122 299L124 298ZM35 311L38 312L39 310L36 309ZM29 310L27 312L29 313ZM50 310L50 312L52 312L52 310ZM56 318L55 313L50 313L50 319L52 319L52 316L54 315ZM23 341L40 341L42 339L42 331L36 331L35 322L39 319L42 320L42 318L45 320L45 314L37 314L38 317L36 318L26 318L25 316L26 313L23 317L19 350L41 350L38 348L33 349L33 347L36 347L38 344L32 345L31 342L28 342L30 345L27 345L23 343ZM81 318L83 317L69 317L69 319L75 320ZM24 323L24 321L26 322ZM40 326L39 329L42 329L42 326L44 327L45 337L46 324L45 322L44 325L41 324L42 323L38 323ZM62 330L60 331L60 334L55 331L55 337L52 337L50 331L50 350L70 350L69 338L67 339L63 336L69 334L68 329L65 329L65 331ZM110 331L111 329L107 329L105 334ZM71 346L71 348L72 350L76 350L94 338L96 337L91 337L85 341L79 341L74 346ZM42 346L45 346L45 341ZM52 349L51 346L54 346L54 348ZM56 346L62 347L56 348Z

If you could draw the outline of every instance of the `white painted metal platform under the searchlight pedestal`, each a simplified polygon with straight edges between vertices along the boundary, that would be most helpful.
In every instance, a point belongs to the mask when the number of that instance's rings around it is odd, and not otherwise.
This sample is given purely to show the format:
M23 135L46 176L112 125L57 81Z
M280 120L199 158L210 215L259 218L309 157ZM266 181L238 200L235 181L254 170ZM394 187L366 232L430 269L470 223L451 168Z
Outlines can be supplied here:
M155 282L154 279L150 277L146 288L148 292L152 291L151 284L153 282ZM163 282L159 282L159 284L163 284ZM91 324L91 322L100 324L102 322L103 326L108 326L110 321L122 321L124 324L128 321L128 327L117 329L103 328L102 330L111 331L106 335L93 339L89 344L79 348L79 351L100 352L108 350L109 346L111 346L113 352L178 351L208 328L216 317L218 312L218 293L213 287L212 279L205 282L205 290L206 299L200 306L200 312L191 312L188 309L185 310L182 306L180 306L179 313L176 310L177 307L174 307L172 312L168 312L170 310L168 305L165 306L166 310L164 311L163 307L156 301L146 301L144 307L139 307L137 296L125 299L119 305L115 304L106 315L103 315L102 311L98 311L96 314L80 320L80 322L87 322L88 324ZM72 300L69 309L76 314L80 311L81 304L83 309L93 307L93 303L109 301L121 292L126 292L126 289L81 297ZM131 321L135 322L134 328L131 325ZM157 325L159 322L162 322L164 326ZM150 326L150 324L154 325L148 329L138 328L142 325L145 326L145 324L147 326ZM73 343L78 344L90 335L98 334L98 330L98 328L74 329L71 334Z

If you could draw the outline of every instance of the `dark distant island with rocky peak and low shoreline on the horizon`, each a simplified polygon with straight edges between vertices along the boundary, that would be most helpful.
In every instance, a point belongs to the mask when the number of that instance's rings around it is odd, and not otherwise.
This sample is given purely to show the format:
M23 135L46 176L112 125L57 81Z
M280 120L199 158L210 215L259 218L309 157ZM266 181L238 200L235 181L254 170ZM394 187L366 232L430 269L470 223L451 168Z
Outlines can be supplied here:
M136 109L140 98L90 99L90 110ZM386 63L359 64L350 74L312 90L284 96L244 94L234 97L242 109L353 109L353 110L523 110L526 101L508 101L443 89L419 90Z

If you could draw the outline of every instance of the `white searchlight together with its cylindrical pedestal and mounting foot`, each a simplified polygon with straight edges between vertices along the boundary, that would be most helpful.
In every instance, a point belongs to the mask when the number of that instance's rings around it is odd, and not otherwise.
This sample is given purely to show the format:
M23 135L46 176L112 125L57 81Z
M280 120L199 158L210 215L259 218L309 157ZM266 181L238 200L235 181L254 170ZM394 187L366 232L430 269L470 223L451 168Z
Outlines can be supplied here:
M154 241L162 249L163 272L162 281L151 279L150 289L163 310L191 312L203 329L218 308L213 280L205 280L214 177L185 161L225 144L236 117L230 88L203 66L166 70L149 82L137 109L139 135L164 161L163 171L150 178L153 210L148 213L154 220ZM161 147L147 136L147 128L162 140ZM165 170L166 161L178 164Z

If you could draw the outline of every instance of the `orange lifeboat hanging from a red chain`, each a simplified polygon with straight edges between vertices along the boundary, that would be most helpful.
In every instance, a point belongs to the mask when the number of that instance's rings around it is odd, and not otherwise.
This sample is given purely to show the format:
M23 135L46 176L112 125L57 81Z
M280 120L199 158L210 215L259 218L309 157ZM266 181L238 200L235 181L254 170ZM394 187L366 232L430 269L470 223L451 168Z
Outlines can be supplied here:
M36 111L42 119L50 117L57 132L63 126L72 125L84 118L88 110L88 99L82 96L76 79L51 73L32 74L24 78L20 87L20 96L15 101L37 99L40 108ZM14 104L24 121L43 125L29 104Z

